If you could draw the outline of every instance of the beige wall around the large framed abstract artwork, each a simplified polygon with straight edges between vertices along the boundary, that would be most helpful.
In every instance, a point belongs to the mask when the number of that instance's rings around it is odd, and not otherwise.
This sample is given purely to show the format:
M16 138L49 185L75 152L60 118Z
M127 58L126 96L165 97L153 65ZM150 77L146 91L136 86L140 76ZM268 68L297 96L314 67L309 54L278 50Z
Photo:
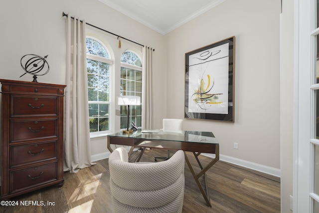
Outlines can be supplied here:
M168 33L167 117L184 116L184 54L231 36L235 47L235 122L186 120L212 131L220 153L280 169L280 12L278 0L226 0ZM233 148L234 142L238 149Z

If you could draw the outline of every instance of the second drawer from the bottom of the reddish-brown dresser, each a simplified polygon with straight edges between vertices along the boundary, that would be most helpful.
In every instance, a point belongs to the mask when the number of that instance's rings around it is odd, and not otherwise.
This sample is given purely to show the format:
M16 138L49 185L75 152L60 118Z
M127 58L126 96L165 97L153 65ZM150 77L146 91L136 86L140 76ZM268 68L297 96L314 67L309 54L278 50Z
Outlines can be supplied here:
M57 158L57 141L10 147L10 168Z

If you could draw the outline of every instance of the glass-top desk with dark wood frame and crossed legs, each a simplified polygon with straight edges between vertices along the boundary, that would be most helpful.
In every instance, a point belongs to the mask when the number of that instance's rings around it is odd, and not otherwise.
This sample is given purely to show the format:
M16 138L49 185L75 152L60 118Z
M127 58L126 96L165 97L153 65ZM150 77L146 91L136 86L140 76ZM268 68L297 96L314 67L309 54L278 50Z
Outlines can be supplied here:
M205 199L206 205L211 207L205 172L219 160L219 144L213 133L198 131L168 132L162 130L158 133L143 133L141 130L138 130L133 134L127 135L123 134L122 132L118 132L107 136L107 147L110 152L113 152L111 144L131 146L129 156L136 147L183 150L185 161L201 194ZM140 158L143 155L144 150L145 149L142 150ZM192 152L194 154L194 157L201 169L197 174L189 162L189 159L185 153L186 151ZM211 161L203 167L198 159L200 153L212 153L215 154L215 158L211 159ZM204 176L206 192L199 182L199 178L201 176Z

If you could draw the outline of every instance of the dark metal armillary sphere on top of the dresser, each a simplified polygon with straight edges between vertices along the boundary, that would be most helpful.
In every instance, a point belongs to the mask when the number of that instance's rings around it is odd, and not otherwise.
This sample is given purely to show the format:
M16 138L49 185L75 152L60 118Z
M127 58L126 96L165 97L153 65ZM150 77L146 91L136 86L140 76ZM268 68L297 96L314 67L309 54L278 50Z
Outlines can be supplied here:
M41 57L35 54L24 55L20 60L21 67L25 71L23 75L25 75L26 73L29 73L33 75L33 82L37 82L36 81L37 76L45 75L46 73L49 72L49 69L50 69L49 64L45 60L45 58L47 57L48 55L44 57ZM22 77L23 75L21 75L20 77Z

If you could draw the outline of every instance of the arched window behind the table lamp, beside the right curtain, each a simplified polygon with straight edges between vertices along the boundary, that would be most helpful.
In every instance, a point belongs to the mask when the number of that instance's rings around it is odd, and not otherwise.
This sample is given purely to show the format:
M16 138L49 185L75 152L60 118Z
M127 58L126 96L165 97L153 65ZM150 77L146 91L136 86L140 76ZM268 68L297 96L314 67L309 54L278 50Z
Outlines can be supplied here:
M121 56L121 95L136 95L142 100L142 62L132 51ZM127 128L127 106L121 106L121 129ZM130 106L130 121L142 126L142 106Z

